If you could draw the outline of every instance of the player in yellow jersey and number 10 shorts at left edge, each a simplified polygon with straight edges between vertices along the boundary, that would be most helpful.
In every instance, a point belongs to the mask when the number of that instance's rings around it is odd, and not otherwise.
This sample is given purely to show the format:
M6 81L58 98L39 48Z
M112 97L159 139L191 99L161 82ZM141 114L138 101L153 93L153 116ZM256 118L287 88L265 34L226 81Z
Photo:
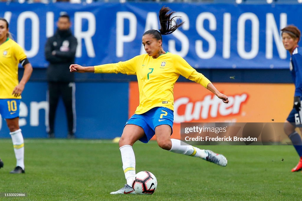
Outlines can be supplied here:
M24 50L9 38L8 22L0 18L0 114L5 118L14 145L17 165L10 173L24 173L24 140L19 127L21 93L31 77L33 68ZM18 64L24 74L18 81Z

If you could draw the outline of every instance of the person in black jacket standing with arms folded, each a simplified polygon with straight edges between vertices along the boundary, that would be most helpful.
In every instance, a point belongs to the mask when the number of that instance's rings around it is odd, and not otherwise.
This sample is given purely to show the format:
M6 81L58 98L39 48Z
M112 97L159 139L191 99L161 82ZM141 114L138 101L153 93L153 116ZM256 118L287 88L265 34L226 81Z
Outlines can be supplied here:
M69 73L69 65L75 61L77 39L71 33L71 22L67 14L61 15L54 36L47 39L45 57L49 61L47 81L49 93L48 137L54 138L54 121L59 97L65 105L68 125L67 138L74 138L76 131L74 74Z

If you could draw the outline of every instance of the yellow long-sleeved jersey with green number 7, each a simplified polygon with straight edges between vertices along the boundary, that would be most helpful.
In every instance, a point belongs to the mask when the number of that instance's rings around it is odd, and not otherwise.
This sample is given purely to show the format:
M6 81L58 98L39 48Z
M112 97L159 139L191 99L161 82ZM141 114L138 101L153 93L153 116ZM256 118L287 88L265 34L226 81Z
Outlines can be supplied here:
M166 52L154 59L147 54L128 61L95 66L95 73L123 73L137 75L140 105L135 114L143 114L155 107L174 110L173 88L179 75L200 83L204 87L210 81L192 68L182 57Z

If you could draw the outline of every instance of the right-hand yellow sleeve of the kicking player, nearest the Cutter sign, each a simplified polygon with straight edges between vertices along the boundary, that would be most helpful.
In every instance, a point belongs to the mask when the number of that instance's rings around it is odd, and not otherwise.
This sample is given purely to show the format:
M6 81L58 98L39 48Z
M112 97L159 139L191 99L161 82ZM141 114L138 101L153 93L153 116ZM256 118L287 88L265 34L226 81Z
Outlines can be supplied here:
M184 76L185 78L187 78L189 80L192 80L192 81L194 81L196 83L201 84L205 88L207 88L207 85L209 83L211 83L210 80L207 79L207 77L205 77L201 73L198 73L181 56L175 55L174 65L175 65L175 68L176 68L176 73Z

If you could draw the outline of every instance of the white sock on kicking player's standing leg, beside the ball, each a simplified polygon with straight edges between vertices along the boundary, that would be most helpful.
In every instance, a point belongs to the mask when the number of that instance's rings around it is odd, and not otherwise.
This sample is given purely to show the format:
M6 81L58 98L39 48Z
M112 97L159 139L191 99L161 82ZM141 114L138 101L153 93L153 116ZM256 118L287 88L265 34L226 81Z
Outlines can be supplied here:
M120 154L122 155L123 170L127 184L132 186L132 181L135 176L135 155L130 145L120 147Z

